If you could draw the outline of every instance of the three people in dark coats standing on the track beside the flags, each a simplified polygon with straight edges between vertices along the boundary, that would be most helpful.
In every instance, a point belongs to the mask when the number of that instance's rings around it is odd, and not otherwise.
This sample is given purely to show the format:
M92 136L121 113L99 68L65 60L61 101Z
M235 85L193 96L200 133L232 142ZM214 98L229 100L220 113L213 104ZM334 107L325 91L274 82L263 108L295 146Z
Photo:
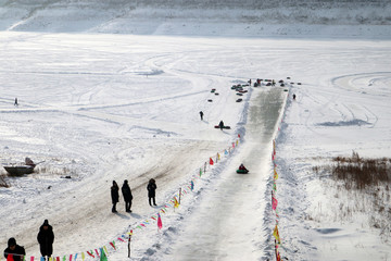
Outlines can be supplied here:
M157 188L157 186L156 186L155 179L151 178L147 186L150 206L152 206L152 203L153 203L153 206L156 206L156 201L155 201L156 188ZM131 190L130 190L127 179L124 181L121 191L123 194L124 201L125 201L125 211L128 213L131 213L130 208L131 208L133 195L131 195ZM111 187L111 197L112 197L112 203L113 203L112 212L116 213L117 212L116 204L119 202L119 187L115 181L113 181L113 186Z

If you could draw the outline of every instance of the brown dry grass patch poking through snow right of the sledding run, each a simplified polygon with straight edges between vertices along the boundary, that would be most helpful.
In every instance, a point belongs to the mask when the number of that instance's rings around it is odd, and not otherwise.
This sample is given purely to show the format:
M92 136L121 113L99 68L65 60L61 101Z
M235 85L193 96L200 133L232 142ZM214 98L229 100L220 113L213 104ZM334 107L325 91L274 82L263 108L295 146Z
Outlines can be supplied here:
M331 177L324 181L328 187L325 189L333 191L337 199L329 202L335 204L335 221L353 221L357 213L364 213L367 224L380 231L381 239L390 240L391 159L364 159L353 151L352 157L336 157L330 164L314 166L313 171Z

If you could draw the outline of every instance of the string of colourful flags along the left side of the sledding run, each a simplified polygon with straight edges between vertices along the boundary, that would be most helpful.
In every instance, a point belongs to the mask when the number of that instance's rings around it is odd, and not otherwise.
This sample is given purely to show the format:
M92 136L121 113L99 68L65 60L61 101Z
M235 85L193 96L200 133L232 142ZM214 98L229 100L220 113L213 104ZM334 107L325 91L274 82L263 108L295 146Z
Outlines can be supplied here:
M222 154L226 157L229 156L232 152L232 150L239 145L239 140L240 140L240 134L238 134L238 139L235 142L232 142L231 147L223 150L222 152L217 152L216 157L210 157L209 165L212 166L216 164L218 161L220 161ZM213 158L215 158L215 161L213 160ZM163 228L162 214L166 214L166 212L169 209L174 209L175 211L175 209L179 208L180 198L194 189L197 179L201 178L201 176L204 173L206 173L206 167L207 167L207 162L204 163L203 167L200 167L198 175L193 175L191 181L184 185L185 186L184 189L182 187L180 187L179 192L176 192L171 198L171 200L168 200L168 202L166 202L164 207L159 210L156 214L153 214L149 219L141 221L138 225L134 227L134 229L135 231L143 229L148 225L154 222L156 223L157 229L159 231L162 229ZM110 254L118 249L116 243L128 243L133 235L134 235L134 231L131 229L130 232L127 232L126 234L118 236L116 239L109 241L106 245L102 247L93 248L91 250L86 250L84 252L65 254L63 257L51 257L49 258L48 261L85 261L85 260L109 261ZM13 258L14 256L17 254L10 253L5 259L5 261L14 261ZM0 256L0 261L3 261L1 259L1 256ZM36 258L36 257L27 258L26 256L23 256L23 261L46 261L46 260L43 258Z

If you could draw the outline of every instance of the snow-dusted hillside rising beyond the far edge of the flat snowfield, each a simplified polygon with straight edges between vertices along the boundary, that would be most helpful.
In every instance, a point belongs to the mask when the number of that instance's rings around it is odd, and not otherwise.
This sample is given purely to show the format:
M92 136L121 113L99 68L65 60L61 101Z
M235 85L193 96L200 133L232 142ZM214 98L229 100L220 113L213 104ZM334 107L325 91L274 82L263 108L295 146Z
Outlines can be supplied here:
M390 24L384 0L0 0L16 32L389 38Z

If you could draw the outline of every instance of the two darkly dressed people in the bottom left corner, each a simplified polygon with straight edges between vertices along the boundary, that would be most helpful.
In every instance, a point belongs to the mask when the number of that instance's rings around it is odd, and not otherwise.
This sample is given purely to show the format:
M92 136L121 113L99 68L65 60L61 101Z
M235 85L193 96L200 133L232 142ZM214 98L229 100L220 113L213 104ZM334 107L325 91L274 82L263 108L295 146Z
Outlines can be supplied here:
M42 254L42 258L49 260L53 253L53 243L54 243L54 233L53 227L49 225L49 221L45 220L43 224L39 227L39 233L37 235L37 240L39 243L39 250ZM13 261L25 260L26 251L24 247L16 244L16 239L11 237L8 240L8 248L4 250L4 258L9 260L9 256L12 257Z

